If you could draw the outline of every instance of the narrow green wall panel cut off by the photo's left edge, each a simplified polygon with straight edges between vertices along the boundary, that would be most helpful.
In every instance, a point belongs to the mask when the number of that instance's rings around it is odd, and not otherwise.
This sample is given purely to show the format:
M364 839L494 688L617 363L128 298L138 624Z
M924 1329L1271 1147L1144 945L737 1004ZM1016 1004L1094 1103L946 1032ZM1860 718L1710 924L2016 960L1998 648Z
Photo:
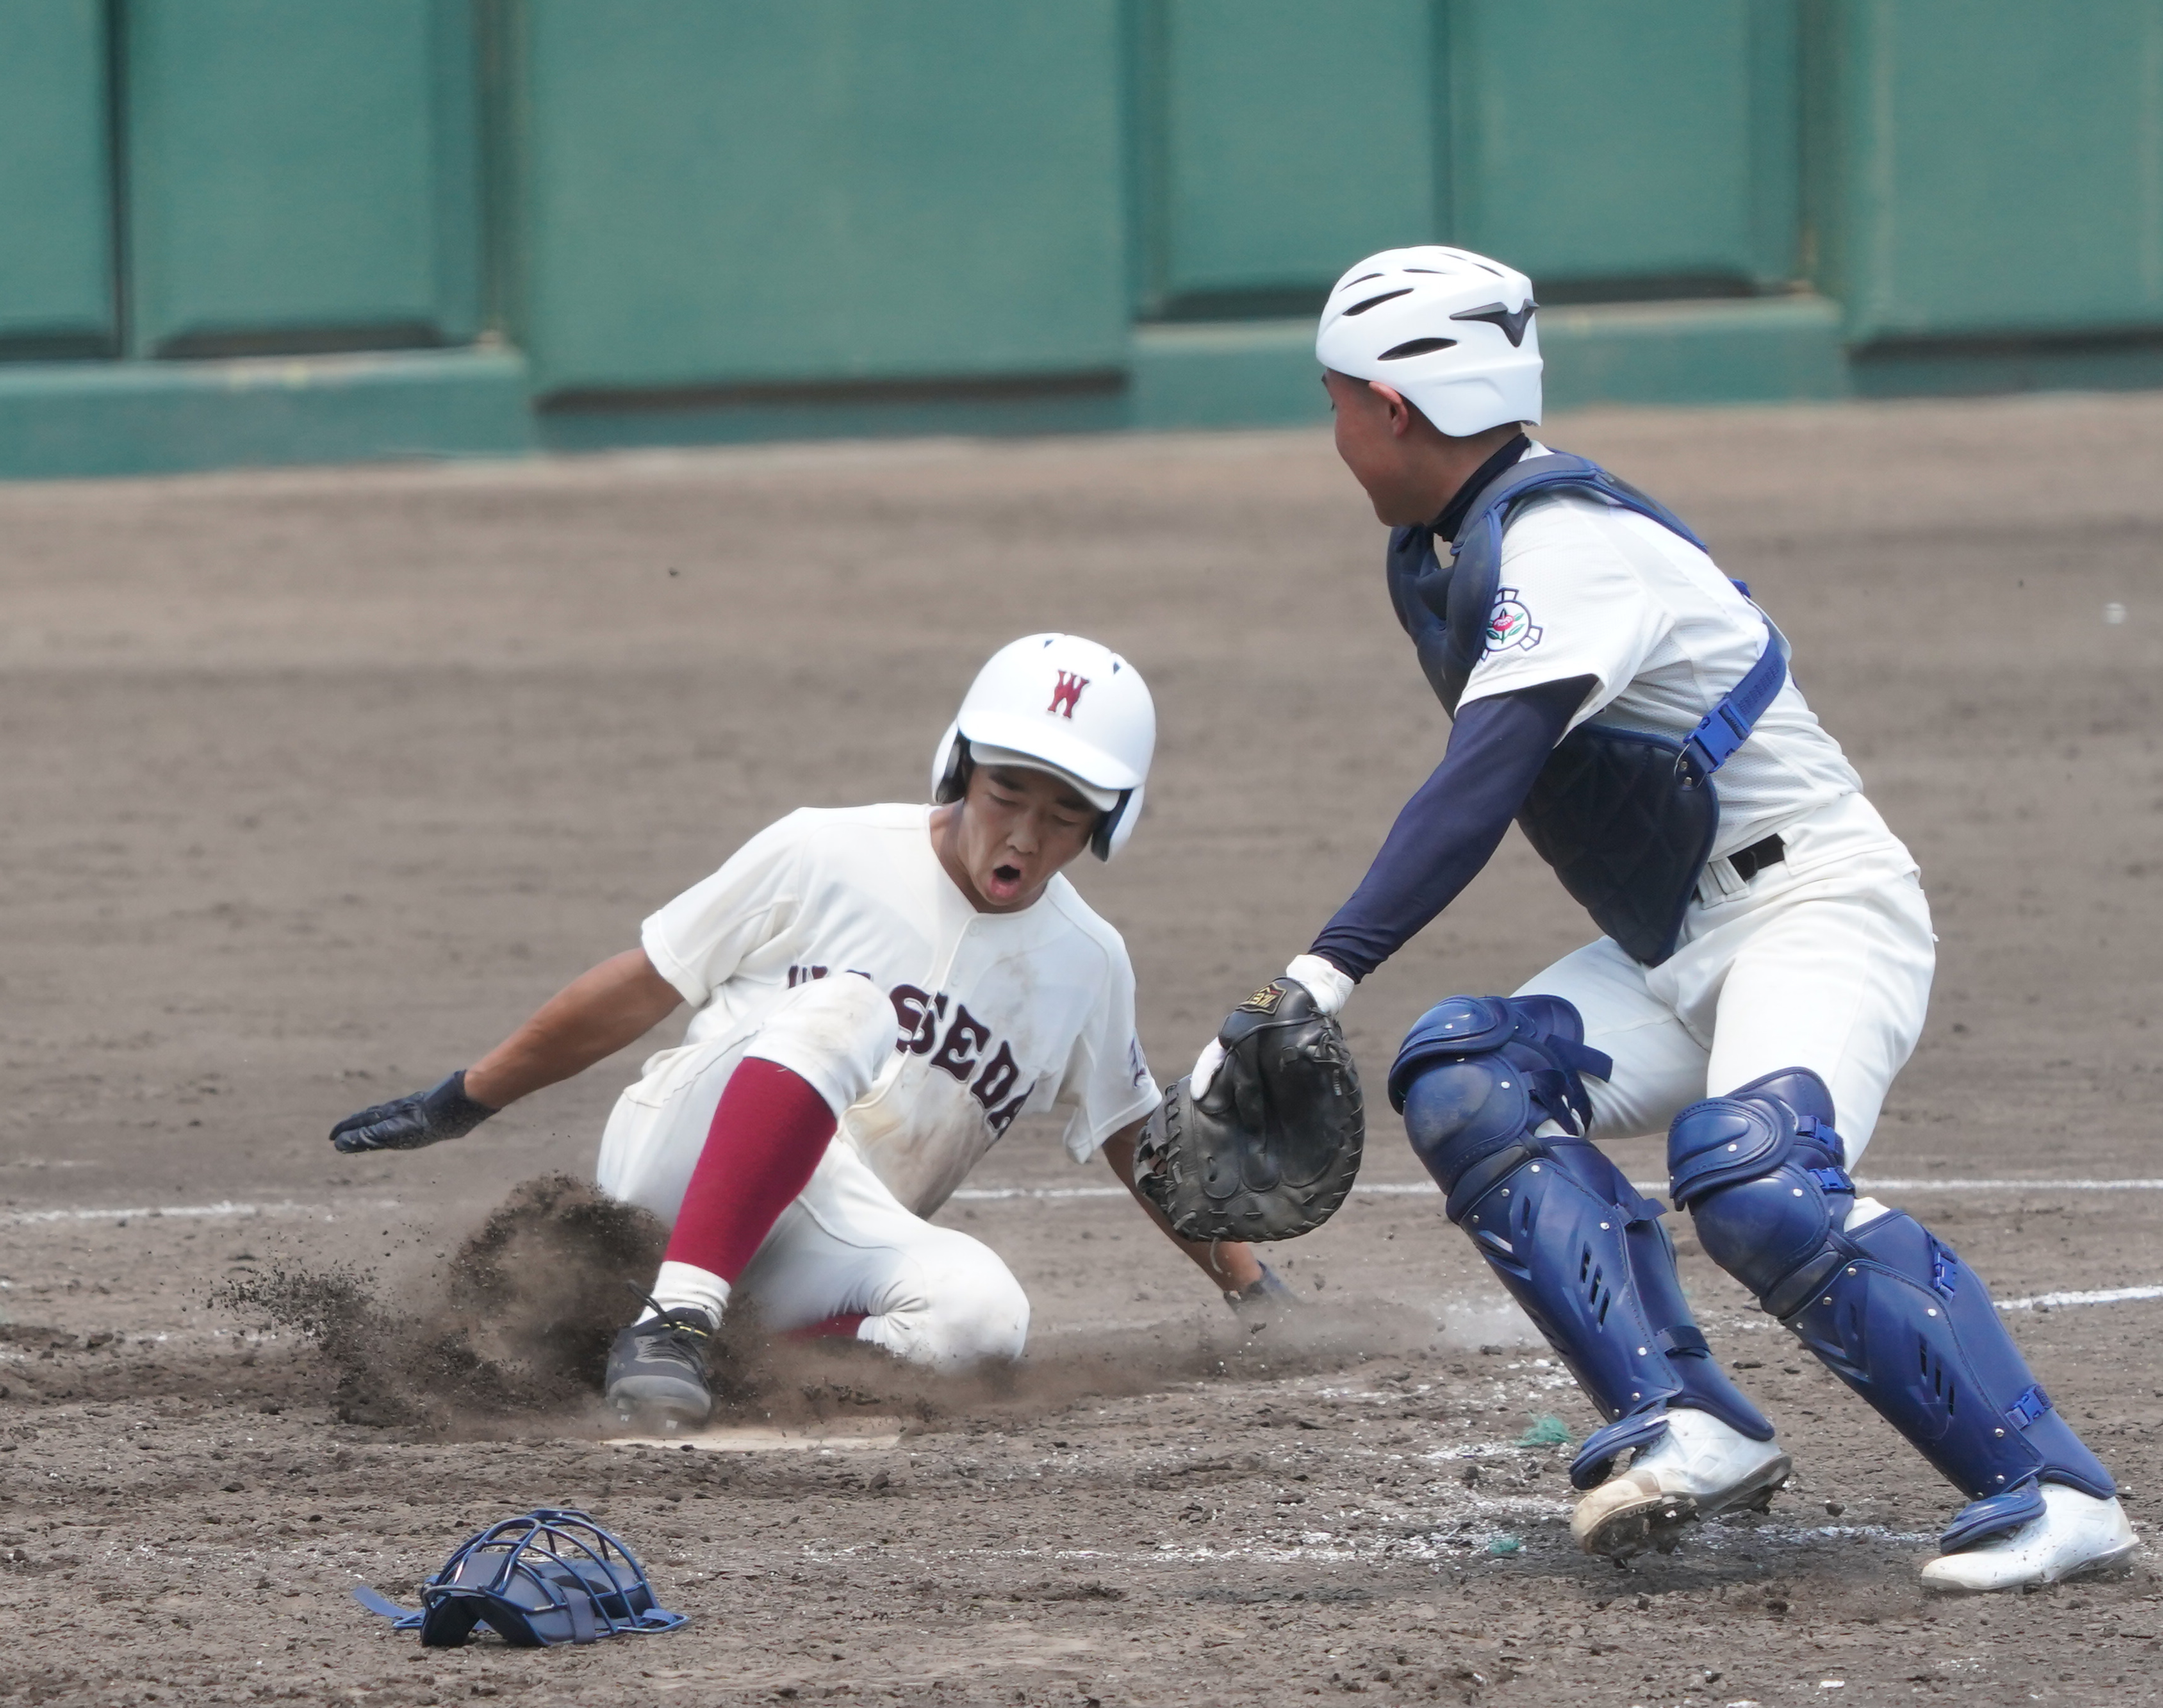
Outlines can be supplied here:
M102 0L0 0L0 355L99 355L112 326Z

